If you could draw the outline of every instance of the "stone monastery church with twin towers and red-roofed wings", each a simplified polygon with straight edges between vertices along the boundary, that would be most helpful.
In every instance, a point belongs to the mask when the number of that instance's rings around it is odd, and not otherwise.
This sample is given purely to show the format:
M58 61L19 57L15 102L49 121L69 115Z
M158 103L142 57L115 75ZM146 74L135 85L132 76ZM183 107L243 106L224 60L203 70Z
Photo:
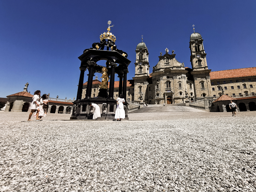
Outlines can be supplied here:
M191 67L176 60L174 51L166 48L160 53L158 63L149 74L148 48L144 42L136 47L135 75L127 80L127 100L148 104L172 104L194 101L199 98L220 97L222 94L254 96L256 92L256 67L230 69L211 72L206 61L202 36L192 33L190 36ZM97 77L92 87L92 97L97 97L100 81ZM83 93L87 84L84 83ZM115 82L114 97L118 97L119 81ZM85 97L83 94L82 98Z

